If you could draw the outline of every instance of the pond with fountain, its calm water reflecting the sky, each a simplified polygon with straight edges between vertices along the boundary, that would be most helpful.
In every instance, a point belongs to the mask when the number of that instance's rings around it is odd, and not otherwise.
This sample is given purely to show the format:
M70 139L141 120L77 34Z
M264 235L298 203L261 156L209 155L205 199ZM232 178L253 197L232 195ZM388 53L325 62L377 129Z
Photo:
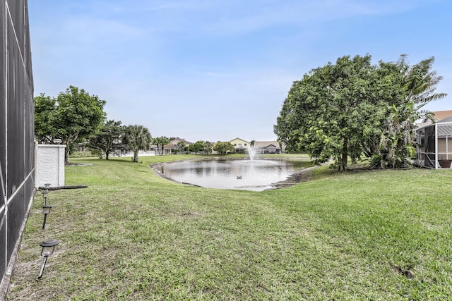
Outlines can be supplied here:
M156 167L165 178L206 188L262 191L287 180L292 173L310 167L300 159L198 159Z

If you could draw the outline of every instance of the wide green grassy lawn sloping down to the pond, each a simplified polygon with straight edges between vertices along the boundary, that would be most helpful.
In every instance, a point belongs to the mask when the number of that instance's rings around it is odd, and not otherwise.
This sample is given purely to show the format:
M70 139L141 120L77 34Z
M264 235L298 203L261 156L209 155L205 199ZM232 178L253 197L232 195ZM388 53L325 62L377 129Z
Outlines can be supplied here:
M42 230L37 194L8 300L451 300L452 171L314 171L251 192L148 164L72 159ZM192 157L192 156L191 156ZM61 243L42 279L40 242Z

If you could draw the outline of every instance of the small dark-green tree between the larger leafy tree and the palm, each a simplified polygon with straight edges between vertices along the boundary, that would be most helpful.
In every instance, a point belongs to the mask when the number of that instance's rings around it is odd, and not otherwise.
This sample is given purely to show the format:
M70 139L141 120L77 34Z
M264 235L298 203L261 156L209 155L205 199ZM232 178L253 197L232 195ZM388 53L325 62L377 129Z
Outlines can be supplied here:
M109 154L121 148L121 136L124 135L124 127L121 121L106 121L95 136L90 137L88 148L105 153L105 159Z

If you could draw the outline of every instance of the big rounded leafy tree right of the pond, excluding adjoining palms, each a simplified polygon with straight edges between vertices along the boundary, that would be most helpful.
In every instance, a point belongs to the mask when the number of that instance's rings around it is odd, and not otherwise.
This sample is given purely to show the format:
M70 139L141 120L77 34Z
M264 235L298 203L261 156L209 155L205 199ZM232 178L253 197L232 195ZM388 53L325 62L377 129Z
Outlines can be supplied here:
M275 125L278 139L309 152L317 164L334 158L346 170L371 127L374 70L369 55L343 56L294 82Z

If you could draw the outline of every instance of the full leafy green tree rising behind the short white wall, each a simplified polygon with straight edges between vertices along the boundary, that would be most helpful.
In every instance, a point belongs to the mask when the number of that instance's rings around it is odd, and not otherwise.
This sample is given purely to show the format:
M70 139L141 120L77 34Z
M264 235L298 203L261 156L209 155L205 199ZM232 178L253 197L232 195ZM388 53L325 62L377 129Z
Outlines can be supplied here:
M99 130L106 116L104 106L104 100L72 85L57 98L40 94L35 97L35 136L42 142L61 140L67 164L76 142Z

